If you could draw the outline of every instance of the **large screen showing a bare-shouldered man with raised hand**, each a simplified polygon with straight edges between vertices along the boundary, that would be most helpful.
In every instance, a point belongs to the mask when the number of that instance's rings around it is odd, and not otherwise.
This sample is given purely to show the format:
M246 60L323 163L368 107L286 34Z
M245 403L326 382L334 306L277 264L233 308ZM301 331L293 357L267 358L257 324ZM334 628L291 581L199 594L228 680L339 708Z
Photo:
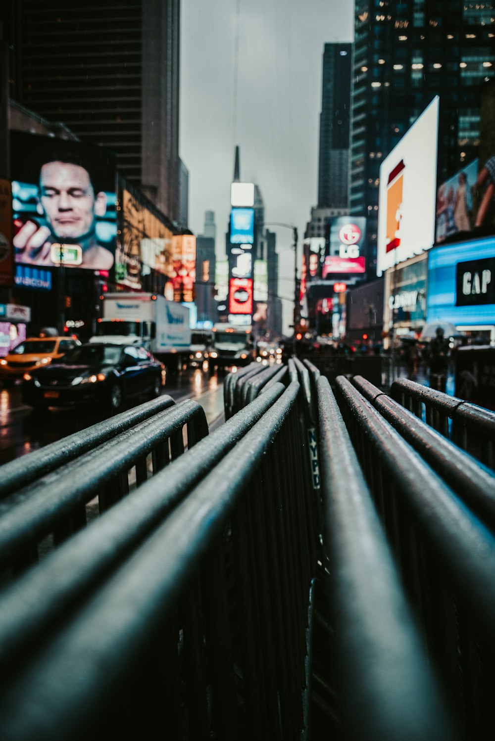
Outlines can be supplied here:
M10 136L16 262L110 270L117 234L113 159L81 142Z

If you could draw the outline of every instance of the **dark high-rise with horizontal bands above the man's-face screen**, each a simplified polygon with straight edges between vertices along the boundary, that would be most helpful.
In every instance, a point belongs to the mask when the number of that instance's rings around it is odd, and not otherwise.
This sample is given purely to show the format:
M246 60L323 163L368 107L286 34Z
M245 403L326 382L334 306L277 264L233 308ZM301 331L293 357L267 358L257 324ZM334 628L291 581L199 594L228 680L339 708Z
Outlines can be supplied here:
M179 221L180 0L10 0L10 97L117 156Z

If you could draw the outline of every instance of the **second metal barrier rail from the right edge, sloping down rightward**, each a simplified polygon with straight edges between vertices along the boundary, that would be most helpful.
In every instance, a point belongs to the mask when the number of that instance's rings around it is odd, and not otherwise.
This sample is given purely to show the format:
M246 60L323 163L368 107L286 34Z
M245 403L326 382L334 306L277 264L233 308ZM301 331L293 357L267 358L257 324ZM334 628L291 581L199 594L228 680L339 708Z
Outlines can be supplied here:
M366 379L353 385L495 532L495 474Z

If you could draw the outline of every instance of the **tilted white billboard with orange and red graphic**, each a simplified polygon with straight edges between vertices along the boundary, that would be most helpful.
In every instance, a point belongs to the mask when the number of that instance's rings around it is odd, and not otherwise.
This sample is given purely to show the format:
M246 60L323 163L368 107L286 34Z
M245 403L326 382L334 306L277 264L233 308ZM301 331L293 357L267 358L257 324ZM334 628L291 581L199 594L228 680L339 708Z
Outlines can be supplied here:
M380 167L376 264L379 276L433 245L438 113L436 97Z

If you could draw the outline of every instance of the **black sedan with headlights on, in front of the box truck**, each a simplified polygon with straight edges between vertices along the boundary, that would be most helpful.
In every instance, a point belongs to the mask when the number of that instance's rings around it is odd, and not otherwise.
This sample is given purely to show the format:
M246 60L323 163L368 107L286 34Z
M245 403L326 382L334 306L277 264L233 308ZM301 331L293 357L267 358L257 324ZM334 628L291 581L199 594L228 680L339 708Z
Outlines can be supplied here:
M89 343L25 373L22 400L35 409L98 402L117 411L123 399L159 396L162 371L145 348Z

